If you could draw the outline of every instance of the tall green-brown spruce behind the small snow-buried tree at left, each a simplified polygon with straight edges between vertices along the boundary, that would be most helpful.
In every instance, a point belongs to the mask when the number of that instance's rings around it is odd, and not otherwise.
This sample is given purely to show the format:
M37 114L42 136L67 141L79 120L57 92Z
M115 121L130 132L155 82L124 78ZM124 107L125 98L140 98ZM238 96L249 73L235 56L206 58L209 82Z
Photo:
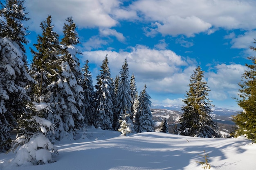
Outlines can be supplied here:
M47 19L40 23L43 33L38 35L37 44L34 44L37 51L31 49L34 55L31 64L31 76L37 81L32 86L32 98L46 95L51 89L48 86L52 82L57 81L59 68L58 55L60 54L60 46L58 34L53 31L52 17L49 15Z

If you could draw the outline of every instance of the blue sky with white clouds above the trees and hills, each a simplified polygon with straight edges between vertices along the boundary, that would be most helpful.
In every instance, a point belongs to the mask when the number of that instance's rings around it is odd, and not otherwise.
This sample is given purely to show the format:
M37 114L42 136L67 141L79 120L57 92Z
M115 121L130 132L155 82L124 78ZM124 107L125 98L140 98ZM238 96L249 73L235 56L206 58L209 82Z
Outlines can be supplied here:
M92 76L108 54L113 78L127 58L140 92L147 85L153 104L182 105L189 78L200 65L216 107L239 109L238 83L256 38L255 0L27 0L28 47L52 15L62 34L72 16ZM28 60L31 60L27 50ZM94 83L96 82L94 78Z

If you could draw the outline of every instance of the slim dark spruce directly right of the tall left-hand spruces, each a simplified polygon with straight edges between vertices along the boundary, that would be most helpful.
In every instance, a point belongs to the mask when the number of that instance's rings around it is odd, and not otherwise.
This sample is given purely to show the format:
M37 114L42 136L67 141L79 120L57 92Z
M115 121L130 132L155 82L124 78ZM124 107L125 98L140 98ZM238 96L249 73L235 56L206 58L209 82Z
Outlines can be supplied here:
M85 65L82 68L83 75L85 77L85 80L82 84L83 87L83 95L84 95L84 118L87 120L88 125L93 125L93 101L94 101L94 87L93 87L93 81L92 81L92 75L89 70L89 61L86 60Z

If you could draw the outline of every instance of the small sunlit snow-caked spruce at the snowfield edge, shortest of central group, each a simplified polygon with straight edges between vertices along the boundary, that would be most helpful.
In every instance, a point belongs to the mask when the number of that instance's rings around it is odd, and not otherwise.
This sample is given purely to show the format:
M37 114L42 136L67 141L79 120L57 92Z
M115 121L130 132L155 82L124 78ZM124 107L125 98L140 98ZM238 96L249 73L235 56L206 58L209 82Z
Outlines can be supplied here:
M129 133L133 133L133 124L132 121L130 120L130 115L128 115L126 113L126 111L124 111L121 116L120 119L118 120L120 127L118 129L119 132L121 132L122 134L124 134L125 136Z

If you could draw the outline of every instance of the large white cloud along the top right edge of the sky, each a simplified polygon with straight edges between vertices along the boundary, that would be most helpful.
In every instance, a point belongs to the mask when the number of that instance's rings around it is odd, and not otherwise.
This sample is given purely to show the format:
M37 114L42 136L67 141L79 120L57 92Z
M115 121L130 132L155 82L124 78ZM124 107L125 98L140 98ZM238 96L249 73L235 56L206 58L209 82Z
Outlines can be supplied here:
M193 36L207 30L211 34L218 28L255 29L255 6L255 0L137 0L130 9L157 24L159 33Z

